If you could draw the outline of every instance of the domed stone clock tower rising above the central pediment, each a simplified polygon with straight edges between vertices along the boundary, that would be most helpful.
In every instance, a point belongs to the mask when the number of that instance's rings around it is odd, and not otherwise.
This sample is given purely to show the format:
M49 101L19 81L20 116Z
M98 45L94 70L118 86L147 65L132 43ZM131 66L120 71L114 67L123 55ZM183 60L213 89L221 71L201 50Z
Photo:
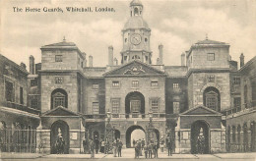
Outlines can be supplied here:
M130 18L122 29L122 64L139 60L152 64L150 49L151 28L143 20L143 5L139 0L130 3Z

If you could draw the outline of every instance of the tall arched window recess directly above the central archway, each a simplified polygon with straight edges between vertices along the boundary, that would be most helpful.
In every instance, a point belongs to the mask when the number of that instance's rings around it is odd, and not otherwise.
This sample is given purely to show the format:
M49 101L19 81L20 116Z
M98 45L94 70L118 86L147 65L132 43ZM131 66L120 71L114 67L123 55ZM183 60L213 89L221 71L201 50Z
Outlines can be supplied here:
M126 95L125 114L145 114L145 98L141 92L133 91Z

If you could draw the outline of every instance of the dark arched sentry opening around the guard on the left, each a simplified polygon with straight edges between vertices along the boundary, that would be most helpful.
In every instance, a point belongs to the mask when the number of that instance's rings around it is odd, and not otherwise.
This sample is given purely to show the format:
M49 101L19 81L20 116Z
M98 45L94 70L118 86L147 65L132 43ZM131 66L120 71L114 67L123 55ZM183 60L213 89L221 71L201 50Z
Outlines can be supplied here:
M56 121L51 125L51 131L50 131L51 154L57 153L55 143L59 136L62 136L63 140L65 141L64 153L68 154L69 153L69 126L66 122L62 120Z

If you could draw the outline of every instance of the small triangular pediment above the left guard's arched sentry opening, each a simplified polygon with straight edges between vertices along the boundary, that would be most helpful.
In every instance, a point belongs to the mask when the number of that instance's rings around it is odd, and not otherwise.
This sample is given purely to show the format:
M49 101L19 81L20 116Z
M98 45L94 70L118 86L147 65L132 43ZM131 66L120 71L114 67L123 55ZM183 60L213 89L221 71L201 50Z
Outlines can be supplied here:
M52 110L46 111L42 114L42 116L79 116L79 114L76 114L64 107L57 107Z

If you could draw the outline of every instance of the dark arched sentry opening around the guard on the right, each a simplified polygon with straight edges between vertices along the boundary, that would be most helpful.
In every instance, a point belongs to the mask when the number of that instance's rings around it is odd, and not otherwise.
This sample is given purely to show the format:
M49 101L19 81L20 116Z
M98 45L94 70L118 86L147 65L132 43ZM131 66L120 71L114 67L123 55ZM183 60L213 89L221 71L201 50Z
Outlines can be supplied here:
M202 132L202 130L203 132ZM198 151L198 143L199 143L199 135L200 135L200 130L201 133L203 133L204 136L204 147L203 147L203 153L208 154L210 153L210 127L206 121L198 120L194 122L191 125L191 153L192 154L197 154L199 153Z

